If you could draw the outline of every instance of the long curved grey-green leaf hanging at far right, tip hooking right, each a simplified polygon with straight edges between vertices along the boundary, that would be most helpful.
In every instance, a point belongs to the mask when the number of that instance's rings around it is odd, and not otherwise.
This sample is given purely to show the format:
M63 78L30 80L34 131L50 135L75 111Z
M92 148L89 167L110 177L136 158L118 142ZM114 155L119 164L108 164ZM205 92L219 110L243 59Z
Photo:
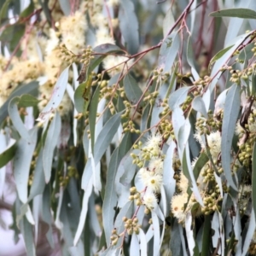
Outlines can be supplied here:
M240 110L240 87L233 84L226 96L224 105L224 119L222 124L222 140L221 140L221 161L224 168L225 177L233 189L236 184L233 181L230 170L230 150L232 139L236 128L236 120Z

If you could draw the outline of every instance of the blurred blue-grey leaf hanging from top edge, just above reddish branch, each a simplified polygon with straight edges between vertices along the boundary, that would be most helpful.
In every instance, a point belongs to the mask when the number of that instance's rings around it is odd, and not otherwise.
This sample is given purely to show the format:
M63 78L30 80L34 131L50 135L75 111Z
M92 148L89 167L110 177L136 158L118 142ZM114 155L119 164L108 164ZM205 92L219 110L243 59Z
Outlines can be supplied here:
M131 55L136 54L139 48L138 20L131 0L120 1L119 26L127 51Z

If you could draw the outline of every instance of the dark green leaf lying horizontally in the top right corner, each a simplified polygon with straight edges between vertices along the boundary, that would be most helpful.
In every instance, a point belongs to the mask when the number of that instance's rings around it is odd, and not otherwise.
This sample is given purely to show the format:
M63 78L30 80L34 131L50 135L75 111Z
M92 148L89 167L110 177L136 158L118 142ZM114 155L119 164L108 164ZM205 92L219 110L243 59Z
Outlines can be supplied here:
M210 14L212 17L237 17L241 19L256 19L256 12L253 9L234 8L221 9Z

